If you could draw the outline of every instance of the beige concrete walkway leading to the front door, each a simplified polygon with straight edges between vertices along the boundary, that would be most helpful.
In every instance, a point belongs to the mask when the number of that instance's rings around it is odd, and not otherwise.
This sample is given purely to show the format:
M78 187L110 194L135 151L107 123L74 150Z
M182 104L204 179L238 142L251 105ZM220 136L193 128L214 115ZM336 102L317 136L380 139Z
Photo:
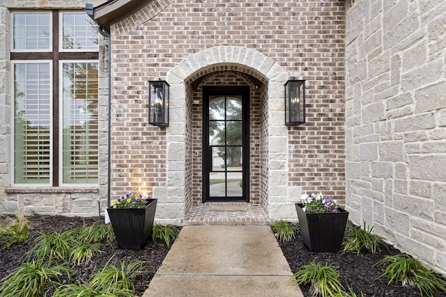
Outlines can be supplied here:
M143 297L297 296L269 226L185 226Z

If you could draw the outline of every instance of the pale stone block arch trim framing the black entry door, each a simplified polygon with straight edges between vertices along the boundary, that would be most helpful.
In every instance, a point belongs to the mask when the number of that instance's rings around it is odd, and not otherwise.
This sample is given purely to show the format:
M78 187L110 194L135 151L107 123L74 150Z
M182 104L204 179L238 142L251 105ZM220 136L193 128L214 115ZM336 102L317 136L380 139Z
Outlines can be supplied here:
M167 73L170 85L169 127L167 127L167 176L166 188L153 188L154 198L160 198L160 209L175 209L176 218L185 216L190 201L188 184L188 159L190 144L186 134L190 123L187 118L191 106L191 83L206 74L219 71L239 72L261 82L266 98L263 120L265 147L262 156L266 178L262 193L266 202L263 209L270 218L295 216L295 209L286 209L281 201L288 199L288 131L284 125L284 83L288 74L274 60L254 49L235 46L210 47L190 54ZM275 166L275 164L281 164ZM158 197L159 196L159 197ZM291 210L291 211L290 211Z

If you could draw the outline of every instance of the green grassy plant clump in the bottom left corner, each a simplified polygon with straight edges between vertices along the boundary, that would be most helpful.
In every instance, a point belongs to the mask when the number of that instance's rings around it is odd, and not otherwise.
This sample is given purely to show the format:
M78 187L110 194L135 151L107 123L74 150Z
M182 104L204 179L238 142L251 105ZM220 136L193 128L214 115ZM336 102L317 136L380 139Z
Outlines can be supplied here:
M48 266L40 262L26 262L3 278L0 286L1 296L34 297L42 296L45 288L59 286L62 273L70 275L72 271L64 266Z

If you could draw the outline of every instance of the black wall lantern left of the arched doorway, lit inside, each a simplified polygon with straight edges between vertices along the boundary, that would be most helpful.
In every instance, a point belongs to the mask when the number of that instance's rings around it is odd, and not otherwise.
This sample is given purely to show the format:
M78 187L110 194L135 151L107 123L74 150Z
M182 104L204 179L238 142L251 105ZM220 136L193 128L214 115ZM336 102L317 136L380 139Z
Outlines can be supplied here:
M148 82L148 123L154 126L169 126L169 83Z

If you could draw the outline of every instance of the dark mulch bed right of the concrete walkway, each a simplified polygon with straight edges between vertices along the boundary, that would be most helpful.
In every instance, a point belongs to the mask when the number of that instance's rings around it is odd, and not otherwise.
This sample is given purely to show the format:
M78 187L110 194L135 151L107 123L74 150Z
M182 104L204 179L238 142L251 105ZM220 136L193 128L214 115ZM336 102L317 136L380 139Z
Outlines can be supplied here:
M420 296L419 291L415 287L401 287L398 284L387 284L389 278L378 278L384 271L384 266L376 266L381 259L387 255L397 255L401 252L387 246L381 248L381 252L376 254L344 255L341 253L332 254L328 252L310 252L305 246L302 236L298 235L289 242L279 243L284 256L288 261L291 271L295 273L300 266L309 264L316 258L316 262L328 262L333 264L339 275L341 275L341 283L347 289L351 287L357 296L398 296L398 297L415 297ZM378 279L376 279L378 278ZM311 291L309 287L301 287L305 297L310 297ZM445 292L438 292L436 295L446 296Z

